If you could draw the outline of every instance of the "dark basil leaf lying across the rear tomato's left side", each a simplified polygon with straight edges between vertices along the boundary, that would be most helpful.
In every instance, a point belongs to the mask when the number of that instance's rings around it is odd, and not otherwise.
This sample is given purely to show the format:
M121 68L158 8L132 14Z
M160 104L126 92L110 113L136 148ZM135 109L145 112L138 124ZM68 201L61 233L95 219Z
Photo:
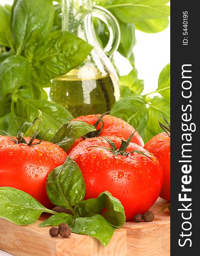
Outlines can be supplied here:
M52 143L59 145L63 150L68 150L73 145L74 141L81 136L96 131L93 125L89 125L83 121L71 121L65 123L56 132L51 140Z

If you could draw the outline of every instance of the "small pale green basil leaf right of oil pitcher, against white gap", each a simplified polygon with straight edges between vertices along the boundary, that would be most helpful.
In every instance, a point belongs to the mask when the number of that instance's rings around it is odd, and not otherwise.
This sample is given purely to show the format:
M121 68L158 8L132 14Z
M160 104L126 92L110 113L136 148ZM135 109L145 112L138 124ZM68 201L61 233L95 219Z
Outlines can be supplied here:
M120 79L120 86L128 87L133 93L141 94L144 90L144 81L138 79L137 70L134 67L129 73L129 75L120 76L119 79Z

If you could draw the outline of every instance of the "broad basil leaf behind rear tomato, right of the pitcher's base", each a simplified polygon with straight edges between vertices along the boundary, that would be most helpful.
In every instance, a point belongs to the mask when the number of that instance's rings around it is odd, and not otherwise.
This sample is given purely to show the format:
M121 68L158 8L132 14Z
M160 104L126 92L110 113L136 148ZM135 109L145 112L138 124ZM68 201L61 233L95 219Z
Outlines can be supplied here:
M141 136L149 119L149 111L146 108L146 99L140 95L133 95L120 99L111 108L110 114L111 116L121 117L135 129L138 128L138 132Z

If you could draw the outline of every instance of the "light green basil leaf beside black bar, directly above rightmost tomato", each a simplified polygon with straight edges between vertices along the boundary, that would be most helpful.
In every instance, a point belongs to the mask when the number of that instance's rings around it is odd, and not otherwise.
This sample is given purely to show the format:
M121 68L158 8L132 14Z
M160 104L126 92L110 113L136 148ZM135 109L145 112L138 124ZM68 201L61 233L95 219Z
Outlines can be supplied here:
M170 102L166 101L166 99L163 99L162 97L155 96L153 99L151 99L148 112L149 118L146 128L142 133L140 133L144 143L150 140L154 135L162 132L160 125L157 124L157 119L160 117L160 115L165 116L165 118L170 122Z

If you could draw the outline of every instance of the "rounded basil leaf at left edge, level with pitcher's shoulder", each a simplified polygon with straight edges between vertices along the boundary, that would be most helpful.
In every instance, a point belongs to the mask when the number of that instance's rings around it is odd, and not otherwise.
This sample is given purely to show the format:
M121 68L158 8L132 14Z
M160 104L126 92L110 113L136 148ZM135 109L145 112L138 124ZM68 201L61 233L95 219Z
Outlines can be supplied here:
M0 63L0 99L20 86L29 83L31 69L22 56L11 56Z

